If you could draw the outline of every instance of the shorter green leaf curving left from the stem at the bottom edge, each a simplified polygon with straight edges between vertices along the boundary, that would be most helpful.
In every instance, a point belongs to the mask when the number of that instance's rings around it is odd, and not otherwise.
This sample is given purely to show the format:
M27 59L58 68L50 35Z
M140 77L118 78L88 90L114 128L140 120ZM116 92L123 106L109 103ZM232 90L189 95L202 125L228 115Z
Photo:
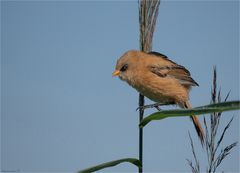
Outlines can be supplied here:
M104 168L107 168L107 167L116 166L116 165L118 165L120 163L123 163L123 162L129 162L129 163L132 163L132 164L136 165L137 167L142 167L142 164L138 159L124 158L124 159L120 159L120 160L114 160L114 161L111 161L111 162L106 162L106 163L103 163L103 164L100 164L100 165L97 165L97 166L93 166L93 167L78 171L78 173L94 172L94 171L98 171L100 169L104 169Z

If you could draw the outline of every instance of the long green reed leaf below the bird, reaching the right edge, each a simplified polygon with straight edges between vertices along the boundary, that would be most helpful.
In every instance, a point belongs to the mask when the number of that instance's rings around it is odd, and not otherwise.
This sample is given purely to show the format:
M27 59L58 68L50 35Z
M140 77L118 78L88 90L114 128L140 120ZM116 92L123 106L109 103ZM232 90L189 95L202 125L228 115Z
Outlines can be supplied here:
M196 107L193 109L175 109L175 110L164 110L155 112L146 118L144 118L139 124L140 127L144 127L152 120L161 120L167 117L178 117L178 116L191 116L201 115L213 112L224 112L240 109L240 101L229 101L216 104L210 104L206 106Z

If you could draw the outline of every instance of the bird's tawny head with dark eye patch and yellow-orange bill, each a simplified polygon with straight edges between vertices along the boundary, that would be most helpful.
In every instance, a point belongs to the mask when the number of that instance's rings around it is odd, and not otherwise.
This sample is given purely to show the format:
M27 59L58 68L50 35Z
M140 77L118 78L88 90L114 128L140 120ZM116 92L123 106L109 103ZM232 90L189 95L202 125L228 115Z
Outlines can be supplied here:
M137 54L139 51L130 50L124 53L117 61L115 71L112 76L118 76L121 80L129 81L134 75L136 63L138 61Z

